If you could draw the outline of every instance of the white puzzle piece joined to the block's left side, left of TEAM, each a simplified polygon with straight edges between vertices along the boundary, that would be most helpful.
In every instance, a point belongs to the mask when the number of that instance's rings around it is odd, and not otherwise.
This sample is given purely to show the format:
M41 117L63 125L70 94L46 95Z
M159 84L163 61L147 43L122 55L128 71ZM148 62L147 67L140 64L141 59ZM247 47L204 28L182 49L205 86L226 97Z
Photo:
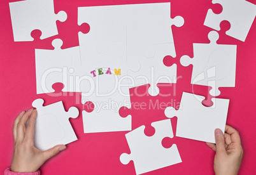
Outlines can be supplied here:
M53 93L52 85L56 82L64 84L64 92L80 92L78 85L83 82L79 82L83 74L80 48L61 49L62 44L61 39L54 39L53 50L35 49L37 94Z

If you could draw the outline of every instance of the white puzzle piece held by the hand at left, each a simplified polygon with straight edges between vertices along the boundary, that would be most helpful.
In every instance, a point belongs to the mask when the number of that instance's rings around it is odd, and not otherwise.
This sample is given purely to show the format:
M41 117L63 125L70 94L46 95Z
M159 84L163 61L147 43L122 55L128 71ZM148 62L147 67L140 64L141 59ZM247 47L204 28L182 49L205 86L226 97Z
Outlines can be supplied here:
M75 107L65 111L62 101L43 107L43 99L33 101L32 106L38 111L34 131L34 145L45 151L55 145L66 145L76 141L76 134L69 122L69 117L78 117Z

